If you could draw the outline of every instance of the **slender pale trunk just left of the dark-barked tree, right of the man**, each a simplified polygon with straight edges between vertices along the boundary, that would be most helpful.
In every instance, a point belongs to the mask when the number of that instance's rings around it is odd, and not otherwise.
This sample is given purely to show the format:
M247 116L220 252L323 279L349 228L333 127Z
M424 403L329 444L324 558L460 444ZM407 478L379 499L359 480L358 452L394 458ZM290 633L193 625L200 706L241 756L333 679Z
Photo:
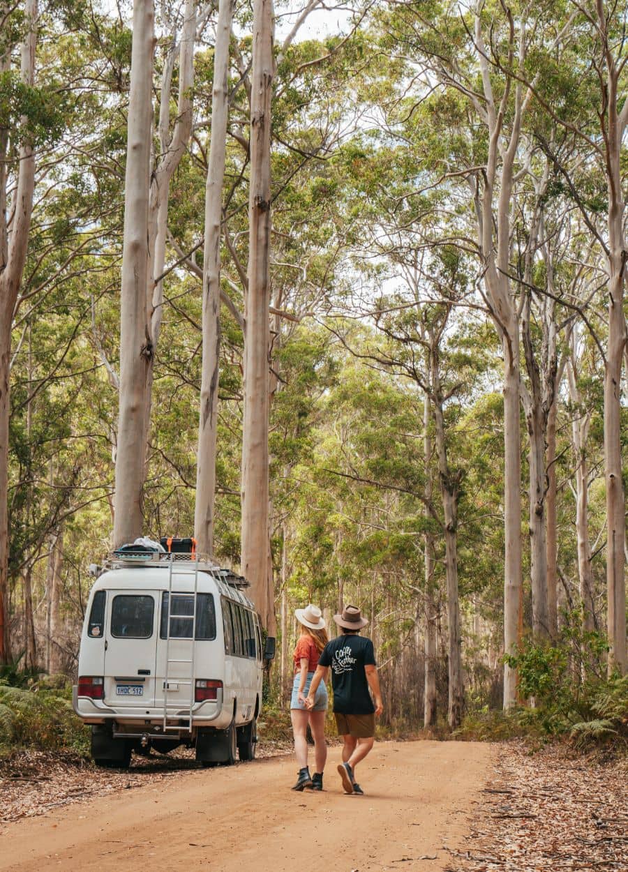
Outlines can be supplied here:
M431 408L426 392L423 400L423 456L425 458L426 503L432 500L432 438L430 436ZM424 509L426 519L431 518L427 505ZM434 546L433 534L423 536L425 546L425 689L423 699L423 726L425 729L436 726L436 603L434 602Z

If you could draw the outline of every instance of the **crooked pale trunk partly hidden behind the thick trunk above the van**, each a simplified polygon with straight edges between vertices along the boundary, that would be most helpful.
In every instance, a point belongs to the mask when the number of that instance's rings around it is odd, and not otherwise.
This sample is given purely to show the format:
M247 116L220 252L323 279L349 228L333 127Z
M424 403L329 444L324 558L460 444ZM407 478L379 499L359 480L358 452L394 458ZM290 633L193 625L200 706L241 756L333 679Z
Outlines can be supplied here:
M154 355L159 343L163 319L163 279L166 262L167 214L170 181L181 163L192 133L192 86L194 85L194 45L196 36L196 2L186 0L179 46L179 97L176 122L170 135L170 92L174 67L174 46L164 65L161 77L158 139L160 155L153 163L148 199L148 267L147 310L153 355L147 372L145 432L150 438L150 417L153 399Z

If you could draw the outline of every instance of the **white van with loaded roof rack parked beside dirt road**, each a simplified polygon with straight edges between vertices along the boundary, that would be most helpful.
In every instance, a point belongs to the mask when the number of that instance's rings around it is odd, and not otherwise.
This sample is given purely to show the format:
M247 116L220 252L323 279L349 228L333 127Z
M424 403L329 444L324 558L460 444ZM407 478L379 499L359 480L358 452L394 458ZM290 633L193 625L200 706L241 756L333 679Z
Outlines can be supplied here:
M179 745L207 765L252 760L275 639L263 650L248 582L189 554L117 553L97 570L73 689L96 764Z

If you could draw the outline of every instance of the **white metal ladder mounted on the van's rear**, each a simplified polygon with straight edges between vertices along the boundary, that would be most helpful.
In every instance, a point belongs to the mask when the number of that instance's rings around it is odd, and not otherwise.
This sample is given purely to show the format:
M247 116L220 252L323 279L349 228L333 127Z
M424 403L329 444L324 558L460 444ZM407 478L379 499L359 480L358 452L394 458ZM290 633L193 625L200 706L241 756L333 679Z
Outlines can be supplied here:
M192 713L195 704L195 641L196 641L196 610L197 610L197 589L198 589L198 568L199 555L195 555L195 573L194 573L194 590L192 592L175 591L175 596L180 600L192 599L194 609L192 615L177 615L172 613L173 607L173 562L174 555L169 555L170 565L168 567L168 606L167 606L167 624L166 624L166 668L164 670L164 688L163 688L163 732L185 732L192 730ZM189 620L192 617L192 635L186 637L174 637L178 647L181 650L189 649L189 657L170 657L170 626L172 618L185 618ZM188 671L183 671L183 675L173 676L171 674L174 664L187 664ZM179 671L177 669L177 671ZM189 687L189 705L185 712L181 712L181 699L176 701L176 705L170 704L168 701L169 683L176 685L188 685Z

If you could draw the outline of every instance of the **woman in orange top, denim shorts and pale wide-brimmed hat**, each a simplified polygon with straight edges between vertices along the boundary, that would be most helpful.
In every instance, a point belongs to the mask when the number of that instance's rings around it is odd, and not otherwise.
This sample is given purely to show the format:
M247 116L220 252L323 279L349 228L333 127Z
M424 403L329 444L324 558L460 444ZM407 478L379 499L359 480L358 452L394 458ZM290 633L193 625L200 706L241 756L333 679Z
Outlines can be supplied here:
M318 657L327 644L324 617L321 610L311 603L304 609L295 611L297 621L301 624L301 635L294 652L295 677L292 684L290 699L290 718L294 733L295 753L299 766L297 784L293 790L323 789L323 770L327 759L327 746L324 740L324 719L327 711L327 688L324 682L317 688L314 705L308 711L305 697L310 691L310 682L318 665ZM308 768L307 728L310 725L314 738L314 762L316 772L312 777Z

